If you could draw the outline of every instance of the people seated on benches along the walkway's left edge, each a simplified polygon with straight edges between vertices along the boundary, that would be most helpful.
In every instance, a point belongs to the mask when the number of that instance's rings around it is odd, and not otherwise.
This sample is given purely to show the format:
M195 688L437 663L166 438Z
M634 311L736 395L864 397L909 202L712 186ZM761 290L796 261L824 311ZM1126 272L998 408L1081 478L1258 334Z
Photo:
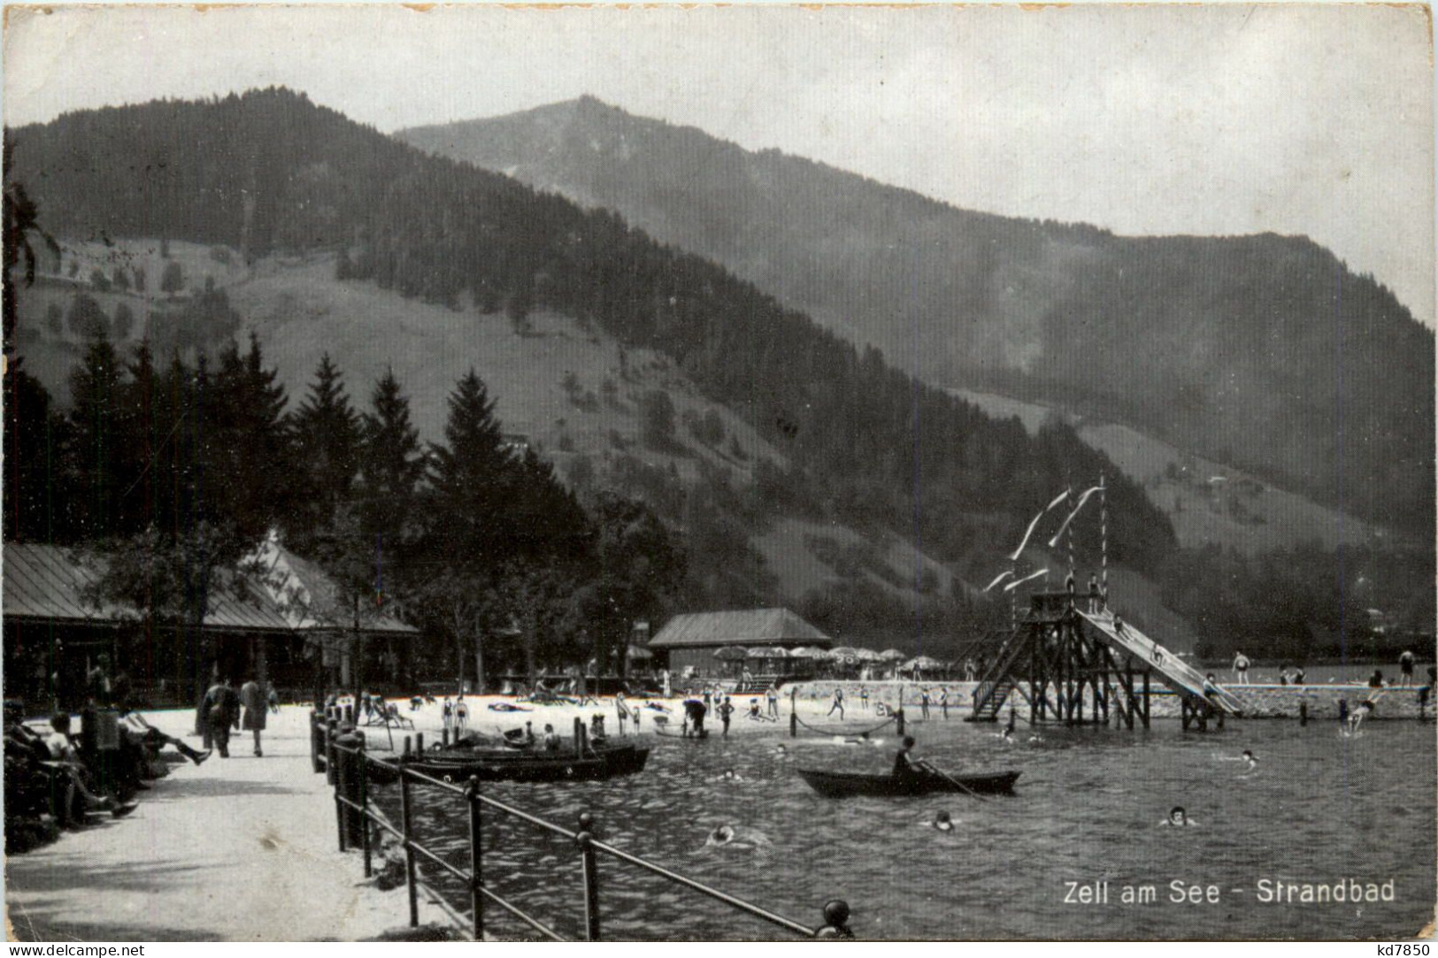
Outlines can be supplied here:
M6 853L26 852L59 837L134 811L150 781L167 775L161 757L174 748L196 765L210 757L150 725L116 702L81 711L76 732L69 712L26 718L23 702L4 702Z

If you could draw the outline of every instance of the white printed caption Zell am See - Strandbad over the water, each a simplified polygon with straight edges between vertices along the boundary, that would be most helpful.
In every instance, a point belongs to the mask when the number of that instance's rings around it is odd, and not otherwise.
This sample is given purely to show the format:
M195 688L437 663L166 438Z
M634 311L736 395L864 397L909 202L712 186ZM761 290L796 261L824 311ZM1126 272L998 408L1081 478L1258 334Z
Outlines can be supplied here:
M1252 896L1260 905L1362 905L1392 902L1393 882L1288 882L1258 879L1254 888L1195 885L1175 879L1163 885L1116 885L1109 880L1064 882L1064 905L1218 905L1225 896Z

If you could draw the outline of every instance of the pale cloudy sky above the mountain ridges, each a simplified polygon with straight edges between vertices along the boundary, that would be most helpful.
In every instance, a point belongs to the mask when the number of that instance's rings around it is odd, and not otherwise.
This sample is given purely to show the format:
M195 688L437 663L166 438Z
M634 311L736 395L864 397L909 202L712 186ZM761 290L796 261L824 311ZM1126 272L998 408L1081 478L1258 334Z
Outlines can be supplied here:
M966 209L1307 234L1434 325L1416 6L9 9L4 118L286 85L393 131L590 93Z

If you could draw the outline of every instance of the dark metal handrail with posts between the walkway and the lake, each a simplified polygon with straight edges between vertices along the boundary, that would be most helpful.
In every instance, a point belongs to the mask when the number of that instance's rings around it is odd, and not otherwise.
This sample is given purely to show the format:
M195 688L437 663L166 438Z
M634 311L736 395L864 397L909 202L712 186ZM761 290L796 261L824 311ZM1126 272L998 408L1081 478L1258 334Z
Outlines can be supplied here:
M594 867L594 865L595 865L595 862L594 862L595 853L605 854L605 856L608 856L608 857L611 857L611 859L614 859L617 862L621 862L621 863L630 865L633 867L641 869L644 872L656 875L656 876L659 876L659 877L661 877L661 879L664 879L667 882L672 882L674 885L682 885L682 886L684 886L684 888L687 888L690 890L699 892L700 895L705 895L705 896L712 898L712 899L715 899L718 902L722 902L723 905L728 905L729 908L732 908L735 911L743 912L743 913L746 913L746 915L749 915L752 918L769 922L771 925L775 925L778 928L784 928L785 931L802 935L805 938L851 938L853 936L851 932L850 932L850 929L848 929L848 925L847 925L847 922L848 922L848 905L846 902L843 902L843 900L837 900L835 899L835 900L827 902L824 905L824 921L825 921L825 923L821 925L821 926L818 926L818 928L810 928L807 925L802 925L801 922L797 922L797 921L792 921L792 919L785 918L782 915L778 915L775 912L771 912L771 911L768 911L768 909L765 909L765 908L762 908L759 905L755 905L752 902L746 902L746 900L743 900L741 898L729 895L728 892L722 892L722 890L719 890L719 889L716 889L713 886L705 885L703 882L695 880L692 877L687 877L684 875L673 872L673 870L670 870L670 869L667 869L667 867L664 867L661 865L656 865L654 862L650 862L650 860L643 859L643 857L640 857L637 854L633 854L630 852L618 849L618 847L615 847L615 846L613 846L613 844L610 844L607 841L597 840L592 836L592 831L591 831L591 829L592 829L592 817L587 811L584 811L584 813L580 814L580 820L578 820L580 829L578 830L571 830L571 829L565 829L564 826L559 826L559 824L557 824L554 821L548 821L548 820L541 818L538 816L529 814L528 811L523 811L522 808L516 808L515 806L510 806L510 804L508 804L505 801L499 801L498 798L492 798L489 795L480 794L477 777L472 777L469 780L469 783L467 783L467 787L459 787L454 783L443 781L440 778L434 778L433 775L427 775L427 774L424 774L424 772L421 772L421 771L418 771L416 768L410 768L407 759L413 754L410 751L410 738L408 736L404 738L404 752L403 752L403 755L398 755L398 757L394 757L394 758L371 758L367 754L367 749L364 747L364 735L362 735L362 732L358 732L358 729L354 729L354 726L348 726L347 734L357 735L358 736L358 745L354 745L354 744L341 744L338 741L338 738L339 738L336 735L338 722L335 721L335 718L329 718L324 724L321 724L319 716L316 713L312 721L315 722L316 729L322 731L322 734L324 734L324 749L322 749L324 754L326 757L332 757L329 761L325 762L326 767L329 764L334 764L336 767L338 765L344 765L348 770L348 774L344 770L341 770L339 774L332 775L332 781L335 783L335 814L336 814L338 823L339 823L339 849L341 849L341 852L345 850L345 844L347 844L347 840L345 840L345 836L347 836L347 823L345 823L347 810L349 813L358 816L360 830L362 831L362 846L364 846L364 850L365 850L365 875L367 876L370 875L370 839L368 839L370 833L368 833L368 829L365 827L364 823L374 821L381 829L384 829L390 834L393 834L397 839L400 839L401 847L404 849L406 854L410 856L408 866L406 869L406 872L407 872L406 877L407 877L407 885L410 885L410 902L411 902L411 905L410 905L410 923L411 923L411 926L414 926L414 925L418 923L417 906L414 903L416 902L416 898L414 898L414 882L417 879L414 877L414 859L413 859L413 856L414 854L420 854L424 859L427 859L430 862L434 862L434 865L440 866L444 872L447 872L449 875L454 876L460 882L464 882L466 885L469 885L469 888L470 888L470 898L472 898L472 903L473 903L473 915L472 915L472 918L473 918L473 934L475 934L476 938L480 938L482 934L483 934L483 918L482 918L482 908L480 908L480 905L482 905L483 900L490 900L495 905L499 905L508 913L513 915L515 918L518 918L522 922L525 922L526 925L529 925L531 928L539 931L545 936L554 938L557 941L565 941L552 928L549 928L548 925L545 925L539 919L533 918L532 915L526 913L523 909L521 909L519 906L516 906L513 902L509 902L509 900L503 899L493 889L487 888L485 885L485 882L479 877L480 841L482 841L482 836L480 836L480 831L479 831L479 827L477 827L477 824L479 824L479 808L492 808L495 811L499 811L502 814L510 816L513 818L519 818L521 821L523 821L523 823L526 823L526 824L529 824L529 826L532 826L535 829L539 829L542 831L548 831L548 833L559 836L562 839L568 839L568 840L574 841L578 846L580 854L581 854L581 863L584 866L582 873L584 873L584 879L585 879L585 882L584 882L584 892L585 892L585 908L584 908L584 912L585 912L585 931L587 931L585 936L588 939L591 939L591 941L600 938L600 911L598 911L598 893L600 893L600 888L598 888L598 873L597 873L597 869ZM418 735L417 739L418 739L418 749L420 749L420 752L423 752L423 748L424 748L424 745L423 745L423 741L424 741L423 735ZM318 742L316 742L316 749L319 749ZM426 847L421 841L418 841L411 834L413 824L410 821L411 816L408 814L408 806L407 804L406 804L404 830L403 831L400 829L395 829L394 824L390 823L381 813L370 808L370 798L368 798L368 788L367 788L367 785L368 785L368 778L370 778L368 765L371 762L388 768L391 772L394 772L400 778L401 787L404 788L404 800L406 800L406 803L408 801L407 791L408 791L408 784L411 784L411 783L429 785L431 788L439 788L440 791L446 791L446 793L450 793L452 795L457 795L457 797L462 797L462 798L466 800L466 803L470 806L470 862L472 862L470 870L464 870L462 867L450 865L449 862L446 862L443 857L440 857L439 854L436 854L431 849ZM326 768L326 771L329 771L329 770ZM355 798L352 798L349 795L342 794L342 790L345 790L345 788L358 793L358 801L355 801Z

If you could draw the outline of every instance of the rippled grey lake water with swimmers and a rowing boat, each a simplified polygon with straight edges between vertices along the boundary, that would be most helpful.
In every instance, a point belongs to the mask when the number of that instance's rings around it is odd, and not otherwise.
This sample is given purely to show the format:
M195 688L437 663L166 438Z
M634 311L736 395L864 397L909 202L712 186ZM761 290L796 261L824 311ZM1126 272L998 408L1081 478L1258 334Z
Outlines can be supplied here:
M1224 732L1020 725L1005 745L992 725L915 724L919 751L948 770L1022 771L1015 797L827 800L797 765L880 771L881 747L807 736L745 735L702 744L653 739L649 768L607 783L486 784L486 794L574 827L582 808L598 834L802 923L843 898L860 938L1392 938L1412 936L1435 900L1435 738L1421 722L1370 722L1343 738L1336 722L1229 722ZM892 735L890 729L884 731ZM778 751L778 745L785 751ZM1260 765L1234 761L1252 749ZM732 770L742 781L726 780ZM397 813L393 788L375 797ZM417 794L420 794L417 791ZM457 800L427 800L417 824L467 866ZM1196 823L1160 827L1181 804ZM953 831L928 823L949 811ZM732 824L736 840L706 846ZM496 892L582 935L572 844L486 814L485 879ZM433 869L431 869L433 870ZM600 859L605 938L782 938L772 928L618 862ZM1392 902L1263 903L1274 883L1392 882ZM1107 903L1067 903L1107 882ZM1218 902L1175 903L1171 882L1215 886ZM1123 903L1123 888L1156 900ZM1073 893L1070 895L1070 888ZM1102 888L1102 886L1100 886ZM450 898L467 906L453 886ZM525 929L486 909L493 934Z

